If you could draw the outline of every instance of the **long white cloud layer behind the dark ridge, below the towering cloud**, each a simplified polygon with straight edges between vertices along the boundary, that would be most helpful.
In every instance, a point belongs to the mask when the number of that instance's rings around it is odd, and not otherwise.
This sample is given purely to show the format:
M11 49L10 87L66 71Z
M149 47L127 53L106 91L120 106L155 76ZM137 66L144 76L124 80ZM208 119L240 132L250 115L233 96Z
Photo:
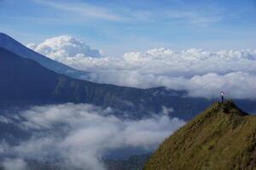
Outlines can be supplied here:
M256 50L212 52L195 48L181 51L154 48L119 58L94 58L73 54L55 57L32 49L76 69L90 71L89 77L84 78L93 82L135 88L165 86L186 90L195 97L218 97L220 90L231 98L255 99L256 96L253 85L256 82Z

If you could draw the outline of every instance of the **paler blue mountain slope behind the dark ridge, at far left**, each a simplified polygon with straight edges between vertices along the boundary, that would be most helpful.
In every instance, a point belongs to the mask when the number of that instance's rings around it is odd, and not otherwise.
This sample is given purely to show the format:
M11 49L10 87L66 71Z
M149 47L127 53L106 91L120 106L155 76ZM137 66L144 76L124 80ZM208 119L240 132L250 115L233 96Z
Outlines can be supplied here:
M88 72L86 71L78 71L67 65L63 65L53 59L49 59L42 54L38 54L30 48L26 48L26 46L22 45L20 42L17 42L12 37L0 32L0 47L8 49L9 51L20 55L21 57L27 59L33 59L37 61L40 65L43 65L45 68L48 68L51 71L55 71L57 73L67 75L68 77L79 78L86 77Z

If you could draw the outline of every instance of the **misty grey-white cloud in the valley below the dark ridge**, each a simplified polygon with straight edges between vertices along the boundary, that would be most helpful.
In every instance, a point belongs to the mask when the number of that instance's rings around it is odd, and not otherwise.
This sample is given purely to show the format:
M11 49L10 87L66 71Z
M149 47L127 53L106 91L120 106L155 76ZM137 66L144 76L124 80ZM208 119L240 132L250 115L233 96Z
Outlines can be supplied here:
M1 154L16 157L21 165L21 160L55 158L66 167L102 170L105 169L102 158L112 151L124 148L152 151L184 124L164 113L136 121L121 120L111 116L111 109L93 105L34 106L20 112L20 122L15 124L32 131L32 138L15 146L2 143ZM3 162L5 167L9 162Z

